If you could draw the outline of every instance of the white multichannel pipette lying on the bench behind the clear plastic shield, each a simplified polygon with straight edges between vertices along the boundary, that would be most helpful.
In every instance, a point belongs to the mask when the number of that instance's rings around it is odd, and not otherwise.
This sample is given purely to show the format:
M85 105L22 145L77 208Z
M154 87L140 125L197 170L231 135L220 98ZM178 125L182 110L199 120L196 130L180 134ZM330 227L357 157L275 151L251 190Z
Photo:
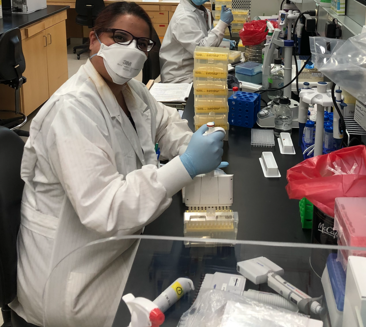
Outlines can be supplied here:
M294 285L286 282L281 277L284 270L266 257L240 261L236 269L256 285L267 282L269 287L288 301L296 304L299 310L307 315L310 315L310 312L320 316L325 313L325 308L317 302L318 299L311 298Z

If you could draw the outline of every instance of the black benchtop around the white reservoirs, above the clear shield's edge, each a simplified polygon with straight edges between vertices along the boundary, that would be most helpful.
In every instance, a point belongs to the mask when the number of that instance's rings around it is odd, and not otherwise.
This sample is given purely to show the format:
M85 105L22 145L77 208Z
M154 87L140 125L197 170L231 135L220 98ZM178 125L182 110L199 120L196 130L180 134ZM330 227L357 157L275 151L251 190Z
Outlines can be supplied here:
M183 118L194 130L193 89L184 108ZM257 125L254 128L259 128ZM250 145L251 129L230 126L229 141L224 142L223 161L229 166L227 174L234 174L234 204L231 209L239 213L237 239L273 242L310 242L311 230L303 230L300 221L299 201L290 200L285 186L286 172L303 160L298 149L298 129L292 129L295 155L282 155L277 138L273 148ZM275 156L281 174L280 178L266 178L259 158L263 151L271 151ZM147 225L144 234L164 236L183 235L183 212L187 207L182 202L182 194L173 196L170 207Z

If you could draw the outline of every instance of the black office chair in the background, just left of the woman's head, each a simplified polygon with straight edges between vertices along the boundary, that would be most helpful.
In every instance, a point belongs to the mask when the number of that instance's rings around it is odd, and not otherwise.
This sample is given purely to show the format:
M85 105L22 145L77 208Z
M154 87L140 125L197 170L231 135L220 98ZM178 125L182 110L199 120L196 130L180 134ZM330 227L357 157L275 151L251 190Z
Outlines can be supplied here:
M78 13L75 19L76 23L89 28L94 27L94 21L104 7L104 0L76 0L75 10ZM76 53L77 49L81 50ZM76 45L73 50L78 59L82 53L87 51L89 51L89 44Z

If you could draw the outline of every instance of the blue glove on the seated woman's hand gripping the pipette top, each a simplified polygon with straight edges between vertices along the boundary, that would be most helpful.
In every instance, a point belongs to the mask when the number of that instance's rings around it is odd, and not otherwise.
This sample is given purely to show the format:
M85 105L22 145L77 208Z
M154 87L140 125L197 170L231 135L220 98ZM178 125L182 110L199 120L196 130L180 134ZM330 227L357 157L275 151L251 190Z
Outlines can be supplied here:
M199 127L193 133L186 152L180 156L180 161L191 178L213 171L221 163L225 134L219 131L203 136L206 130L208 130L206 124Z

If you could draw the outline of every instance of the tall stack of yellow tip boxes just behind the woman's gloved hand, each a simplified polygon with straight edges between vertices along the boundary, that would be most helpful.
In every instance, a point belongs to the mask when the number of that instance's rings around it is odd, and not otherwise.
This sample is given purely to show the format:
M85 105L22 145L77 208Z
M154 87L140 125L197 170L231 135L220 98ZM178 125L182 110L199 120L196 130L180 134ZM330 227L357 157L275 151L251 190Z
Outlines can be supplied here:
M228 48L196 47L194 54L194 126L215 122L229 129L228 123ZM228 133L225 135L227 140Z

